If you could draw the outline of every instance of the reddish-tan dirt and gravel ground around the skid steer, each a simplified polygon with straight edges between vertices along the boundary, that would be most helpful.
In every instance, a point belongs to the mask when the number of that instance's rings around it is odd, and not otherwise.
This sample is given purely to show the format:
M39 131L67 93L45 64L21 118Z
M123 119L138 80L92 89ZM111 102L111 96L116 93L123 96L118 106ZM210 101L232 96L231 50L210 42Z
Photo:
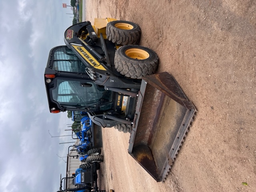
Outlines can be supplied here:
M165 182L128 154L129 134L103 129L106 190L256 191L256 2L86 0L86 20L140 25L140 45L158 54L198 109ZM242 185L246 182L248 186Z

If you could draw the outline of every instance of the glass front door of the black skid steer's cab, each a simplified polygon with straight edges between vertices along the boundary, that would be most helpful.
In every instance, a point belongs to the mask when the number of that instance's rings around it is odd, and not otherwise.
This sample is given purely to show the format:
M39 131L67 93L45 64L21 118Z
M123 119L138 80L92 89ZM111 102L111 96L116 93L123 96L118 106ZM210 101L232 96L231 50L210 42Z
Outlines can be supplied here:
M112 108L112 92L92 80L56 78L50 89L52 100L59 106L83 110L105 111Z

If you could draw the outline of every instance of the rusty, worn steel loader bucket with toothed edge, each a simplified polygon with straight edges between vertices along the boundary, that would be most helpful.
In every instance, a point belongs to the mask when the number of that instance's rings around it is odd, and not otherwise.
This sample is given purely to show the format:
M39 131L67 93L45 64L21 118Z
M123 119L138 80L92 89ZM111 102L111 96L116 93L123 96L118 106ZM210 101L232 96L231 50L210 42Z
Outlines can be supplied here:
M195 113L172 75L143 78L128 153L156 181L165 180Z

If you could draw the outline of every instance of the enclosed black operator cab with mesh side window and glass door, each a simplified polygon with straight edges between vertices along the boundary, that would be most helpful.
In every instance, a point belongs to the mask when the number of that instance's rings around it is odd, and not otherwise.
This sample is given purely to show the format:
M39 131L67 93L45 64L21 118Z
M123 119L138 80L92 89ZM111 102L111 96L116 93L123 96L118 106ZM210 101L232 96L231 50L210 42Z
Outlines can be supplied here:
M56 112L72 109L95 112L113 108L113 92L95 84L86 72L86 65L67 46L50 51L45 81L49 106Z

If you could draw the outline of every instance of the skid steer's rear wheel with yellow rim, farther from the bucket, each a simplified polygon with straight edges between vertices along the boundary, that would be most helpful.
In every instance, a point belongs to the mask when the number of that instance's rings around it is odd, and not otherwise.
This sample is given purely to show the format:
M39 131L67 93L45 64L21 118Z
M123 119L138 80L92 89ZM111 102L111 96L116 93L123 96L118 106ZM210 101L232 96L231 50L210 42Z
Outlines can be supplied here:
M113 43L134 45L140 40L140 27L129 21L112 21L107 24L106 34Z

